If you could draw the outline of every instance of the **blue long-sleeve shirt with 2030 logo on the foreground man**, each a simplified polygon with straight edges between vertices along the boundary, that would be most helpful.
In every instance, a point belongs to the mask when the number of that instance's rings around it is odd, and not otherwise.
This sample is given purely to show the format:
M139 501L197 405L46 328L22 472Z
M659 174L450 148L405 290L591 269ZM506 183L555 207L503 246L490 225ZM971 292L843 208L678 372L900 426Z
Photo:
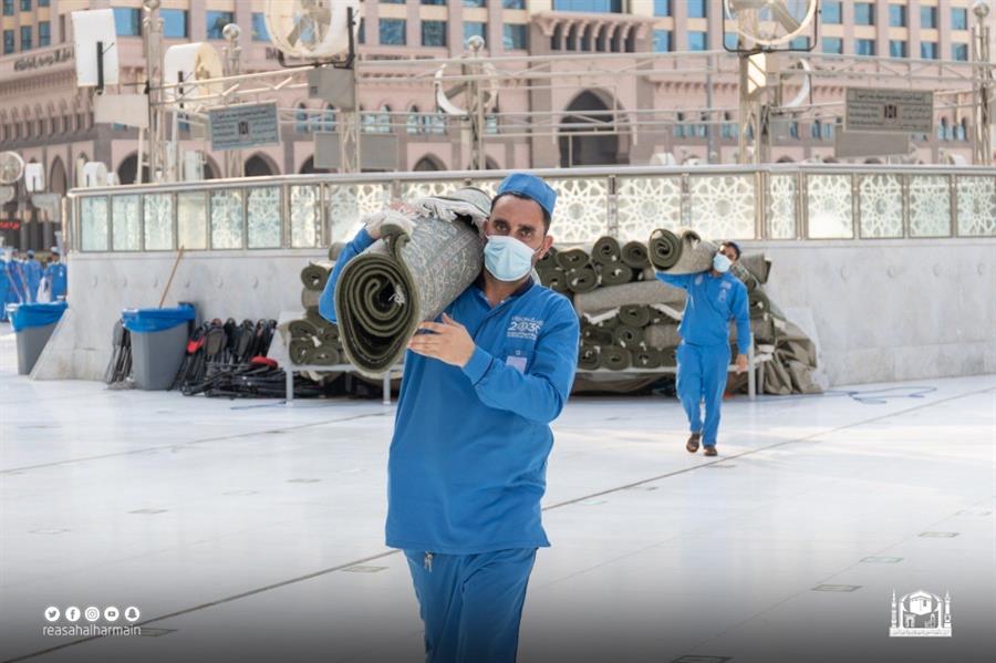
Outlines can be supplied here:
M328 320L336 321L343 266L371 244L361 230L340 253L319 303ZM549 546L540 517L549 424L573 384L578 315L531 280L496 307L474 283L445 312L476 349L463 369L405 353L387 460L387 546L449 555Z

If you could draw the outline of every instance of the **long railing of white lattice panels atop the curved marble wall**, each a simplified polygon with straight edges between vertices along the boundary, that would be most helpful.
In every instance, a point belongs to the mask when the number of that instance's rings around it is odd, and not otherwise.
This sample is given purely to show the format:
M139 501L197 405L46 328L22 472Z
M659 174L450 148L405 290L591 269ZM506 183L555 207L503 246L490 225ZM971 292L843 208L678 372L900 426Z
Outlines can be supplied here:
M785 164L536 169L558 191L560 245L646 240L691 227L744 240L996 236L996 169ZM504 170L281 175L73 189L79 251L312 249L360 219L459 186L495 193Z

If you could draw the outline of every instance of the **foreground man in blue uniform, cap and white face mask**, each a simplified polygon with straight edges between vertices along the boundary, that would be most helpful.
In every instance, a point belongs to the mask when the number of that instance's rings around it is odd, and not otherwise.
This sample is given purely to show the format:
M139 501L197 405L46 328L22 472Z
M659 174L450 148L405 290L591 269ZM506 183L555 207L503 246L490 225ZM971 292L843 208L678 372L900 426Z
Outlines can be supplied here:
M515 661L536 551L550 545L540 518L550 422L580 341L571 303L530 277L553 244L556 199L533 175L501 183L480 276L405 354L386 542L407 558L426 662ZM319 307L328 320L343 266L381 237L383 219L371 217L340 255Z

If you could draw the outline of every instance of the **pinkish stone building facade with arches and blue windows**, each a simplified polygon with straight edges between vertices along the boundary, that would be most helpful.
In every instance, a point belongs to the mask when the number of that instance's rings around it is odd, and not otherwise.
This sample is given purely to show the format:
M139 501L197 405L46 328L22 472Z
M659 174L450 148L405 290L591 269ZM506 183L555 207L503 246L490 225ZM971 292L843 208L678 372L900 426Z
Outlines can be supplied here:
M64 194L82 180L86 162L103 162L122 184L135 182L138 133L94 122L93 92L75 86L71 12L114 10L122 90L145 81L141 0L0 0L3 51L0 54L0 152L14 151L43 165L45 189ZM276 70L278 51L267 34L264 0L162 0L165 45L207 41L226 45L222 28L241 29L243 72ZM813 43L797 48L815 54L878 55L906 60L967 61L971 0L821 0ZM556 56L591 53L722 52L736 43L735 27L722 0L365 0L359 52L378 62L381 77L360 90L364 133L396 138L395 169L465 169L470 154L459 123L436 108L430 85L398 82L392 62L458 58L466 40L479 35L490 56ZM990 17L992 21L993 17ZM737 155L735 75L629 75L611 80L579 74L579 64L550 64L549 85L502 89L498 114L486 127L487 166L547 167L647 164L654 155L678 162L733 163ZM679 59L674 59L681 62ZM930 64L930 62L927 62ZM521 63L498 63L513 70ZM583 66L581 66L583 69ZM398 66L398 72L411 71ZM557 79L558 72L562 73ZM812 102L840 101L845 83L815 79ZM246 175L314 172L315 131L334 131L336 112L309 99L307 90L276 94L284 114L282 143L246 153ZM704 108L720 108L705 115ZM623 125L606 123L604 135L578 137L570 131L516 132L515 117L550 118L561 130L600 113L660 111L653 122L632 115ZM840 108L782 124L772 160L829 159ZM511 118L511 120L509 120ZM572 120L573 118L573 120ZM971 155L971 110L936 113L931 134L914 139L915 154L935 163L945 153ZM611 131L610 131L611 130ZM222 155L207 149L196 131L181 125L180 149L203 153L205 177L225 176ZM147 180L147 174L143 177ZM0 236L8 246L45 248L55 226L31 201L23 185L0 207Z

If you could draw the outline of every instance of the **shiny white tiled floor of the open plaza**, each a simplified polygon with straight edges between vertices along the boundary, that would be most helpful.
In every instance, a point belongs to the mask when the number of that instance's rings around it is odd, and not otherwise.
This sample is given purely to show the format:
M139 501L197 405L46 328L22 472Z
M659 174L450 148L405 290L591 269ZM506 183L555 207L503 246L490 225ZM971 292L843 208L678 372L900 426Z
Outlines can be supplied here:
M32 382L9 329L0 661L422 659L382 538L393 408ZM727 402L713 462L672 400L572 400L519 661L992 661L996 376L854 389L889 397ZM950 591L954 636L890 639L893 589ZM42 634L108 604L169 631Z

